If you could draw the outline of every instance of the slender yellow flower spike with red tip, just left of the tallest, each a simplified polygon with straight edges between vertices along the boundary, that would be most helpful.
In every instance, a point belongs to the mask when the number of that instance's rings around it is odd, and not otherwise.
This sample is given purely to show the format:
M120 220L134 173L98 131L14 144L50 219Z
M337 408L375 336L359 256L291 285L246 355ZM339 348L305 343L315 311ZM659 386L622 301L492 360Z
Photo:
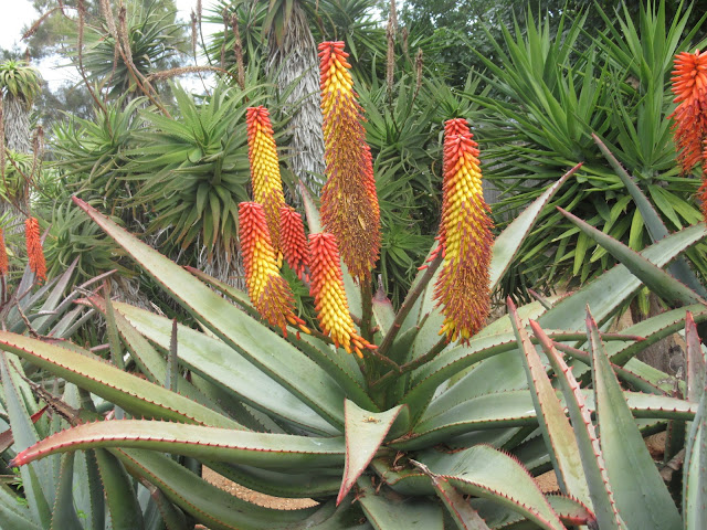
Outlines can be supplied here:
M279 209L285 205L285 194L279 177L273 126L265 107L249 107L245 116L253 198L265 209L271 241L275 252L279 253Z

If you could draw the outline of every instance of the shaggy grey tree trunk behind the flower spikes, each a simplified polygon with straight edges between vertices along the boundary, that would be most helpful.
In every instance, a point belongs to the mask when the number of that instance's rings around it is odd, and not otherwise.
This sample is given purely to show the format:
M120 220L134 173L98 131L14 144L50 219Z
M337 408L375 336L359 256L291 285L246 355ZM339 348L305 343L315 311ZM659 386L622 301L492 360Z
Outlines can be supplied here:
M302 182L318 191L325 170L319 61L307 18L296 2L282 45L276 44L274 34L270 42L268 71L277 75L279 94L294 88L284 107L292 115L292 169Z

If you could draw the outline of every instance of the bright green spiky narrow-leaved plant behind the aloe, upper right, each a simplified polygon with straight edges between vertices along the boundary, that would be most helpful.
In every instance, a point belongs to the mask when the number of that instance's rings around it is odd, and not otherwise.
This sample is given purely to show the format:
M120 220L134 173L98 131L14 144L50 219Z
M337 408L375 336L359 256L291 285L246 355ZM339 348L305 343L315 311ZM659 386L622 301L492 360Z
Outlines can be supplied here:
M555 203L640 251L651 241L646 222L591 135L632 168L671 229L700 219L690 201L698 182L677 174L667 119L673 56L701 47L690 44L699 24L686 28L689 7L667 18L664 1L642 7L635 24L627 10L616 20L601 14L608 30L598 35L585 31L587 12L556 23L549 14L536 20L528 13L526 30L502 28L503 36L492 40L493 61L481 57L493 97L469 97L487 110L478 126L487 139L485 174L504 192L495 205L499 221L538 197L558 168L581 160L582 170ZM559 213L540 226L514 265L524 284L584 283L615 263ZM704 274L703 246L687 255ZM640 301L646 305L645 293Z

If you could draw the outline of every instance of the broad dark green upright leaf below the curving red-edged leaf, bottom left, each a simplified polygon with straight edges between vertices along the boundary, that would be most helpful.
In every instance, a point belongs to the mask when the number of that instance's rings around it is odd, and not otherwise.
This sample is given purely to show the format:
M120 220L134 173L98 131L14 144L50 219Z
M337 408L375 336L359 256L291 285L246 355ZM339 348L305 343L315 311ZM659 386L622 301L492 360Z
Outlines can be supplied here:
M116 530L143 529L143 510L135 496L133 480L120 462L104 449L94 451L103 491L110 515L112 528Z

